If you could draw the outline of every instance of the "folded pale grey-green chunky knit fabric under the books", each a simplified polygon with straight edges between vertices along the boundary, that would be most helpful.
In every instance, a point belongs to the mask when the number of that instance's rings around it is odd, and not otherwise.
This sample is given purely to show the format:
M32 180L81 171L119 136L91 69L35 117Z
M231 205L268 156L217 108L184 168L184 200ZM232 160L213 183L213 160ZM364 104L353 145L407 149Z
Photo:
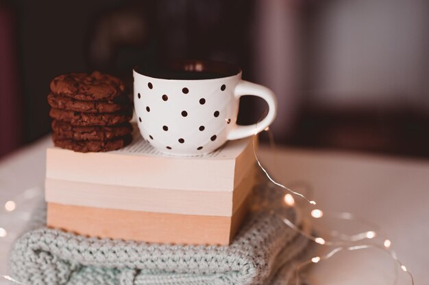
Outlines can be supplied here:
M297 220L293 208L281 211ZM229 246L96 239L47 228L45 221L42 207L10 254L12 276L27 285L289 284L308 245L262 210L249 215Z

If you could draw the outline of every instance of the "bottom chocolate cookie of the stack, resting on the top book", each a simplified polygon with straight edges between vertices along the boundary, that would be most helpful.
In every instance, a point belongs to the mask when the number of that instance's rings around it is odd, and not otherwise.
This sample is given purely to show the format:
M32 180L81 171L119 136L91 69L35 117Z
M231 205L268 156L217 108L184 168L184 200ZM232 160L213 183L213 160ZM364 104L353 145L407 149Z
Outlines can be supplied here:
M131 135L125 135L108 141L77 141L74 139L60 139L53 133L52 140L55 146L75 152L108 152L127 146L132 141L132 137Z

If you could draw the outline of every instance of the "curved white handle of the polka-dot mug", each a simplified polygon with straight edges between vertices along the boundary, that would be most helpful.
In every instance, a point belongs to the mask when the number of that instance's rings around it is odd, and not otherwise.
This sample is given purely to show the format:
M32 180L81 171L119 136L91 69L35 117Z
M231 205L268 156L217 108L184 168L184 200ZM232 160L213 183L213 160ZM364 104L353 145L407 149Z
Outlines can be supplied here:
M268 113L262 121L256 124L251 124L249 126L235 124L230 133L228 133L228 140L241 139L243 137L256 135L267 128L267 126L273 122L275 115L277 114L277 98L275 98L275 94L267 87L242 80L238 85L236 85L234 96L236 98L240 98L243 95L258 96L264 99L268 103Z

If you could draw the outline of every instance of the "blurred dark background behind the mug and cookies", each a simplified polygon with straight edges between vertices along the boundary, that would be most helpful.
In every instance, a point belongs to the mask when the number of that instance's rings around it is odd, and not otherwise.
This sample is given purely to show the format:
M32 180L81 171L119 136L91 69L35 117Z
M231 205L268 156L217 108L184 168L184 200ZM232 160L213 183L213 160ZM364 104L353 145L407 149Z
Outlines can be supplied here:
M1 1L0 157L50 131L49 82L154 57L232 62L278 143L429 157L429 1ZM240 122L260 101L243 99Z

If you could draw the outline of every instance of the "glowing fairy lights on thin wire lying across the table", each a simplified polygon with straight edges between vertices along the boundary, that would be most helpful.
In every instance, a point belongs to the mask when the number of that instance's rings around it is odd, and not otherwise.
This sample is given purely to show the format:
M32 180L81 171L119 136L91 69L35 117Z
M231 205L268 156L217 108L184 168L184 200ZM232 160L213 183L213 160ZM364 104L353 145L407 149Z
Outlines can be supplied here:
M275 144L273 141L272 133L269 131L269 128L265 128L265 131L267 133L269 133L269 143L270 143L271 148L274 148ZM295 198L293 197L293 195L295 195L299 198L302 198L306 202L308 202L308 204L310 204L312 207L315 207L317 205L317 202L315 200L308 199L306 197L306 195L304 195L303 193L300 193L298 191L294 191L291 188L286 187L285 185L274 180L271 177L271 175L269 174L267 169L265 169L265 167L262 166L262 163L260 162L260 160L258 159L258 155L256 154L256 139L257 139L257 134L255 134L254 138L253 138L253 152L254 152L254 157L256 159L256 163L258 164L258 167L260 167L262 172L265 174L267 179L271 183L273 183L273 185L275 185L276 187L280 187L280 188L282 188L288 192L282 196L284 204L286 204L286 206L291 206L291 207L297 206L296 202L295 202ZM27 189L27 191L24 191L21 194L23 196L22 198L24 198L26 200L34 198L36 195L40 194L36 190L38 190L37 187L34 187L32 189ZM19 195L19 196L21 196L21 195ZM3 205L4 210L8 213L12 213L12 212L16 211L18 201L19 201L18 196L14 200L8 200ZM312 208L312 210L310 211L310 215L314 219L320 219L321 217L328 215L328 214L332 217L335 217L336 219L343 219L346 221L358 220L358 218L355 217L352 213L328 213L326 211L322 211L319 208ZM297 265L297 267L296 267L296 278L295 278L297 285L301 284L301 281L302 281L301 271L306 266L308 266L309 264L317 264L319 262L322 262L323 260L328 260L328 259L332 258L332 256L335 256L336 254L338 254L339 252L343 252L343 251L354 252L354 251L365 250L365 249L378 249L378 250L386 253L392 260L394 260L397 263L398 267L400 269L402 269L402 271L404 271L405 273L408 274L408 276L410 277L410 284L414 285L413 275L410 273L410 271L408 271L406 266L400 261L400 259L397 257L397 254L391 249L391 245L392 245L391 240L387 239L385 236L380 234L380 231L368 230L365 232L360 232L358 234L350 235L350 234L343 234L343 233L339 232L338 230L333 230L331 232L331 235L333 237L339 238L340 241L333 241L333 240L331 241L328 239L323 239L321 236L314 236L308 232L305 232L299 226L295 225L295 223L293 223L291 220L289 220L285 217L279 217L279 218L282 219L285 226L288 226L289 228L291 228L292 230L297 232L297 234L301 234L302 236L305 236L306 239L309 239L310 241L314 241L318 245L331 246L331 247L334 246L334 249L330 250L330 252L328 252L328 254L324 254L321 256L312 256L311 258L308 258L308 260L304 260L303 262L301 262L300 264ZM360 219L360 220L363 221L363 219ZM363 221L363 222L370 224L369 221ZM5 228L0 227L0 238L4 238L5 236L8 236L8 231ZM382 236L382 245L370 244L370 243L369 244L357 244L359 241L371 240L371 239L374 239L376 236ZM29 284L24 284L24 283L20 282L19 280L15 280L10 275L0 274L0 277L3 280L8 280L9 282L12 282L14 284L29 285Z

